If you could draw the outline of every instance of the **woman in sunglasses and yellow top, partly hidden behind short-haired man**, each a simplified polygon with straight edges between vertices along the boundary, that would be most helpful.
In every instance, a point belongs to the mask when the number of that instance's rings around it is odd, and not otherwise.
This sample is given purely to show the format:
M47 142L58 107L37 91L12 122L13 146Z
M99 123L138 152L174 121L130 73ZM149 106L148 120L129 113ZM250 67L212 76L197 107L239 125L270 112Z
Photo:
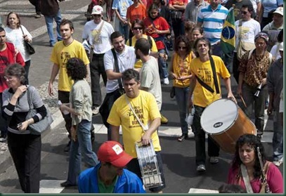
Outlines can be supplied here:
M134 34L134 37L131 37L130 39L128 39L126 41L126 45L135 46L137 39L140 39L140 38L148 39L151 45L150 55L154 56L155 58L158 58L158 50L157 50L157 46L156 46L154 39L150 36L143 34L143 30L145 30L145 25L144 25L143 20L135 19L131 24L131 30L132 30L132 33ZM141 68L141 67L142 67L142 61L138 60L135 63L134 68Z

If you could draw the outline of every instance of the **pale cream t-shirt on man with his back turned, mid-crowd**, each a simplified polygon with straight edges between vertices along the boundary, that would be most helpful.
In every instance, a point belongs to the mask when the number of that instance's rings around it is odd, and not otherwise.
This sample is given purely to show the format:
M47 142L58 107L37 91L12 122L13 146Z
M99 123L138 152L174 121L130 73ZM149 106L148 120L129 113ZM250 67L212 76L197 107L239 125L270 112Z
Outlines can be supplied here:
M148 88L148 92L155 96L159 110L162 107L162 89L158 62L150 56L150 60L143 63L141 68L141 86Z

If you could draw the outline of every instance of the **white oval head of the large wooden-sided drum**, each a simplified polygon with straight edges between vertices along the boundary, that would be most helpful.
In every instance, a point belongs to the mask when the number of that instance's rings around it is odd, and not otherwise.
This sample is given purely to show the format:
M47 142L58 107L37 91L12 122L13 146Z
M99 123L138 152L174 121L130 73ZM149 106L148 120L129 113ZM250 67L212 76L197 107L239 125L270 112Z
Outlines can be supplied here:
M227 131L238 118L238 105L233 100L221 98L208 105L200 119L202 129L209 134Z

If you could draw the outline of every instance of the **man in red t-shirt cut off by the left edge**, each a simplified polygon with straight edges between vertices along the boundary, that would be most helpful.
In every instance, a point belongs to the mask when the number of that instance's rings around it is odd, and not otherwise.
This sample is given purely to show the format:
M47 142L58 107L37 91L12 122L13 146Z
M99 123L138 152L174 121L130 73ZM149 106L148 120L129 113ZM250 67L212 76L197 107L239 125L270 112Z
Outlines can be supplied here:
M8 65L19 63L25 66L25 62L21 53L17 51L15 46L6 42L6 32L3 27L0 27L0 107L2 107L2 92L8 88L7 79L4 78L5 69ZM7 140L7 125L0 112L0 142Z

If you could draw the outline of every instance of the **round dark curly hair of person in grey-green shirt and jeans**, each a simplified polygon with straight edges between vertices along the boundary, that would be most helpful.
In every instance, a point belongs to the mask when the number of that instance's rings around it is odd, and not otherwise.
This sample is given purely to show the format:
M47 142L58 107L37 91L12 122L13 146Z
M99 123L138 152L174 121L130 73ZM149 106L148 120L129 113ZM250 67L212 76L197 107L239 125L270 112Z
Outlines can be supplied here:
M84 61L79 58L70 58L67 60L67 75L74 80L86 78L87 70Z

